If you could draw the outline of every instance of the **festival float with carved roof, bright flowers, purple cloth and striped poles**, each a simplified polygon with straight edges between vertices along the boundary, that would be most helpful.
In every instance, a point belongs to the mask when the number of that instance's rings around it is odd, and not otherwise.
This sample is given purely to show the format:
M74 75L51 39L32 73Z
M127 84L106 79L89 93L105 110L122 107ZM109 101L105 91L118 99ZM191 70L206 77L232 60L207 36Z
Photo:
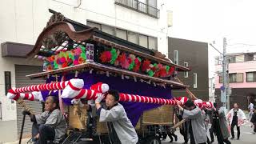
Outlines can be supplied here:
M69 126L69 136L63 143L78 142L85 134L92 139L108 134L106 123L98 122L97 118L94 124L88 123L90 114L82 102L94 102L98 94L110 89L120 92L119 101L136 127L139 139L144 143L161 143L157 129L173 126L173 106L187 99L174 96L171 91L189 92L188 86L177 78L178 71L188 71L188 67L175 65L158 51L74 22L56 12L27 57L42 60L43 70L26 77L44 78L46 83L12 88L7 97L26 110L30 110L27 100L44 102L50 95L58 97ZM189 92L189 95L193 94ZM211 102L195 103L212 107ZM93 134L88 134L88 129L94 129Z

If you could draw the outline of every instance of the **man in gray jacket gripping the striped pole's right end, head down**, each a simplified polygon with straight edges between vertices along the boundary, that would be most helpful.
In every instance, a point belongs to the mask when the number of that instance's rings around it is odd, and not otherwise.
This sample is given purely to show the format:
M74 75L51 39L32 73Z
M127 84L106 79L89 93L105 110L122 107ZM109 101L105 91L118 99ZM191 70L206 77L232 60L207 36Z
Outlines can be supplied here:
M184 106L185 109L178 102L178 108L183 111L183 118L187 119L187 135L190 136L190 144L206 144L207 135L201 109L191 100L188 100Z

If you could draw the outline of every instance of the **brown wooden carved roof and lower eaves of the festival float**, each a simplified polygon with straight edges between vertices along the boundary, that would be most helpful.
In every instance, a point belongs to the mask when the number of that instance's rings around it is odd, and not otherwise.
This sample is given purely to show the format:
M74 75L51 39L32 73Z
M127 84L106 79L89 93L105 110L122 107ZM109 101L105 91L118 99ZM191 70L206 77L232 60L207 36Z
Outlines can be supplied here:
M134 58L138 58L141 63L141 59L144 61L153 62L154 66L159 64L159 66L164 66L167 71L170 70L170 68L174 68L175 71L190 70L188 67L175 65L173 62L170 62L169 59L165 58L165 55L158 51L146 49L145 47L138 46L132 42L127 42L121 38L106 34L97 28L86 26L79 22L74 22L73 20L65 18L62 14L54 12L53 10L50 10L50 12L54 14L51 16L50 21L47 22L46 28L42 30L41 34L39 34L33 50L27 54L28 58L47 59L53 55L59 54L62 51L74 50L79 46L86 46L86 43L90 42L100 48L102 48L102 46L106 46L105 52L108 52L107 49L112 48L111 52L114 50L115 52L120 52L120 54L122 52L125 52L128 55L132 54ZM105 48L103 49L105 50ZM82 62L75 66L66 66L58 68L57 70L47 70L38 74L30 74L27 75L27 77L40 78L46 77L49 74L61 74L63 72L71 72L74 70L94 69L105 71L107 73L110 72L111 74L122 74L129 76L130 78L140 78L146 82L155 82L158 84L168 85L174 89L184 89L187 87L182 83L174 82L174 78L171 77L155 77L153 74L142 74L138 73L138 71L131 70L130 68L129 70L124 70L121 68L121 66L118 67L114 64L111 66L110 64L99 62L99 59L103 57L100 54L104 53L104 50L99 52L96 51L98 58L95 58L96 60L94 62ZM56 62L54 64L56 64Z

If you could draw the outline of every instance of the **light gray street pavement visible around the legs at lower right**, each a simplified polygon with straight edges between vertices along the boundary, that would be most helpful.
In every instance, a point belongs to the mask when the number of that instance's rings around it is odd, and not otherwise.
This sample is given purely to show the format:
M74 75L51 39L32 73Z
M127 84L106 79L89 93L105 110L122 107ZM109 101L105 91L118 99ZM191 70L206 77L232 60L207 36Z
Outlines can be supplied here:
M234 140L230 140L232 144L256 144L256 134L253 134L253 128L250 127L250 122L246 121L241 127L240 140L237 140L237 131L236 127L234 128L235 136ZM178 135L178 141L172 142L172 144L182 144L184 142L183 136L177 130L175 134ZM208 132L208 138L210 138L210 134ZM229 138L230 139L230 138ZM163 144L170 143L170 139L167 138L166 141L162 141ZM218 144L217 138L215 137L215 142L213 144Z

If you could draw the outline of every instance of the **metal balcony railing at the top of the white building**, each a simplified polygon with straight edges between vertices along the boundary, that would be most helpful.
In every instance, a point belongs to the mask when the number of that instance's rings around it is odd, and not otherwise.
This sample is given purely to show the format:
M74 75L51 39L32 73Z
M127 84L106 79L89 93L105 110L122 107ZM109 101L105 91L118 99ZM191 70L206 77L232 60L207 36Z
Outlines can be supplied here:
M138 0L115 0L115 4L124 6L131 10L136 10L142 14L147 14L154 18L159 18L159 10L154 6L149 6Z

